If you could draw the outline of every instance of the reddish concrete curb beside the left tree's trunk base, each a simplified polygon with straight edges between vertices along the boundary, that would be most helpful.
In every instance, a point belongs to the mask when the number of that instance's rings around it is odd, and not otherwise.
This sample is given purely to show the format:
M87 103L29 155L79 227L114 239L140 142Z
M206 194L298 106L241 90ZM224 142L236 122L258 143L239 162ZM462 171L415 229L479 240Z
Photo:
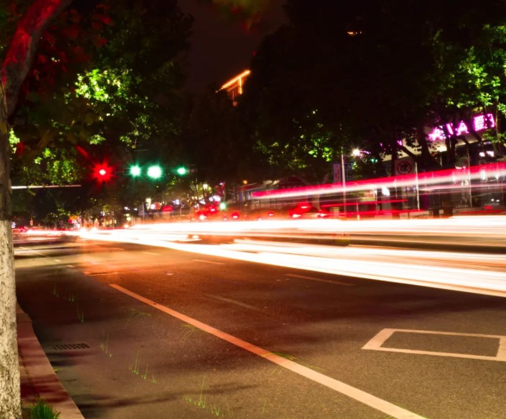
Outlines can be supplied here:
M40 346L28 314L17 305L19 369L21 375L21 397L35 401L46 400L61 419L84 419L74 401L63 388L46 353Z

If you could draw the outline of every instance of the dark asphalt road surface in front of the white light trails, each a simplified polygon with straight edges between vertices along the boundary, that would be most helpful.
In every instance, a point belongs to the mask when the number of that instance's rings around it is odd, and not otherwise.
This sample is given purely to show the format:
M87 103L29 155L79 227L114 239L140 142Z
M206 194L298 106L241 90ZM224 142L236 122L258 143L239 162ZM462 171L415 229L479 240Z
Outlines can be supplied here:
M15 250L86 418L506 418L503 298L134 244Z

